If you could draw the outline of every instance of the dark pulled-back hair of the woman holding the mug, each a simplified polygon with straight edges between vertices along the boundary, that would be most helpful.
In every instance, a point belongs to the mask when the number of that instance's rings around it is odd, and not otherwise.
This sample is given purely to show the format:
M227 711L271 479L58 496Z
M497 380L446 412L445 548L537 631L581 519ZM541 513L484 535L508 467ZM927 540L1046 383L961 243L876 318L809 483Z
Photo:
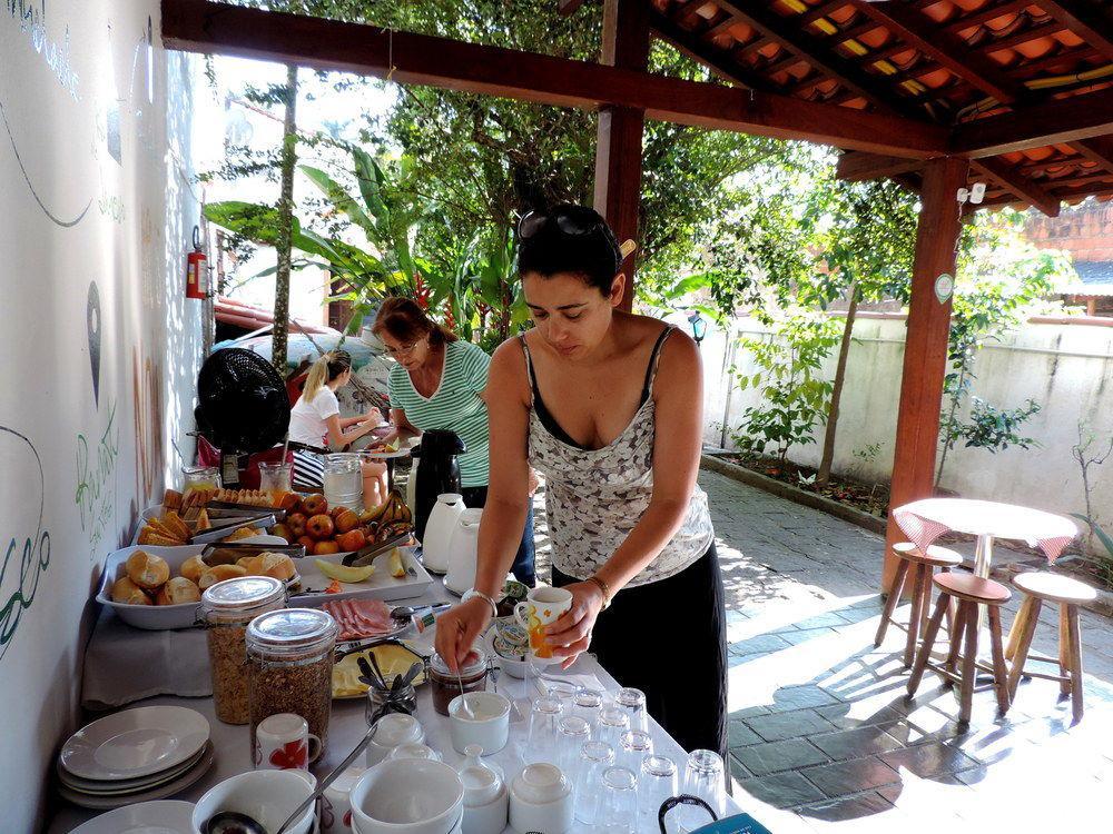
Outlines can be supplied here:
M561 272L580 276L604 296L622 266L614 232L594 209L561 203L531 211L518 226L518 274L551 278Z

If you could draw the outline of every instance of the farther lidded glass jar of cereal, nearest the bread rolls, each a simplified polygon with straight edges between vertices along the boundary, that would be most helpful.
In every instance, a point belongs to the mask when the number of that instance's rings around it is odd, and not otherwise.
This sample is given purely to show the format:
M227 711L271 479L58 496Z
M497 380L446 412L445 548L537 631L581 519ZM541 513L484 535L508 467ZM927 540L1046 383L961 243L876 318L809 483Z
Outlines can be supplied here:
M270 576L238 576L201 594L207 628L213 705L226 724L247 724L247 624L259 614L286 607L286 586Z

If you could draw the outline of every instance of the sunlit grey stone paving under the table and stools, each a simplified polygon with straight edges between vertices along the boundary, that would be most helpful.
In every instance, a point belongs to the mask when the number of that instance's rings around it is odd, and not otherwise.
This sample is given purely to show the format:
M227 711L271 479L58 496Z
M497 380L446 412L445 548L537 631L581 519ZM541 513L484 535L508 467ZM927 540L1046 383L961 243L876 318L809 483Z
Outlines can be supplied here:
M716 473L700 484L727 589L736 795L774 834L1111 830L1113 623L1083 612L1078 726L1057 684L1032 679L1002 721L977 693L959 733L934 675L905 701L903 632L874 648L880 536ZM1041 622L1034 649L1055 655L1057 624Z

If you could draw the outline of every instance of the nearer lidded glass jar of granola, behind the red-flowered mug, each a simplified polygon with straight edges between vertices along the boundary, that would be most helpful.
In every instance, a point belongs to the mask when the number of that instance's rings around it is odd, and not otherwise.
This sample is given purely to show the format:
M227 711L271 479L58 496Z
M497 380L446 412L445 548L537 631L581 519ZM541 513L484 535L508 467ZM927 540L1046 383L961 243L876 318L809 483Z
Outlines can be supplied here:
M247 698L252 749L259 722L276 713L305 718L328 745L333 702L333 651L339 626L317 608L285 608L263 614L247 626Z

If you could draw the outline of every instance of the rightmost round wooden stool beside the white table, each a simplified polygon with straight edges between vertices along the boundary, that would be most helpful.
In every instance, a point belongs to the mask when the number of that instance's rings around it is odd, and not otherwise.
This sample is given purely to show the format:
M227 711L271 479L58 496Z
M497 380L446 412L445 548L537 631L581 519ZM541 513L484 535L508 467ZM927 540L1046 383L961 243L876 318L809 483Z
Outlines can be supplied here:
M1082 632L1078 626L1078 606L1096 598L1097 592L1085 583L1061 574L1018 574L1013 585L1024 594L1024 602L1016 613L1013 627L1008 632L1008 647L1005 657L1011 659L1008 671L1008 698L1016 697L1021 676L1042 677L1058 681L1060 694L1071 696L1074 723L1082 721ZM1040 608L1044 603L1058 604L1058 657L1043 657L1030 653L1032 636L1040 619ZM1058 664L1057 675L1027 672L1028 661Z

